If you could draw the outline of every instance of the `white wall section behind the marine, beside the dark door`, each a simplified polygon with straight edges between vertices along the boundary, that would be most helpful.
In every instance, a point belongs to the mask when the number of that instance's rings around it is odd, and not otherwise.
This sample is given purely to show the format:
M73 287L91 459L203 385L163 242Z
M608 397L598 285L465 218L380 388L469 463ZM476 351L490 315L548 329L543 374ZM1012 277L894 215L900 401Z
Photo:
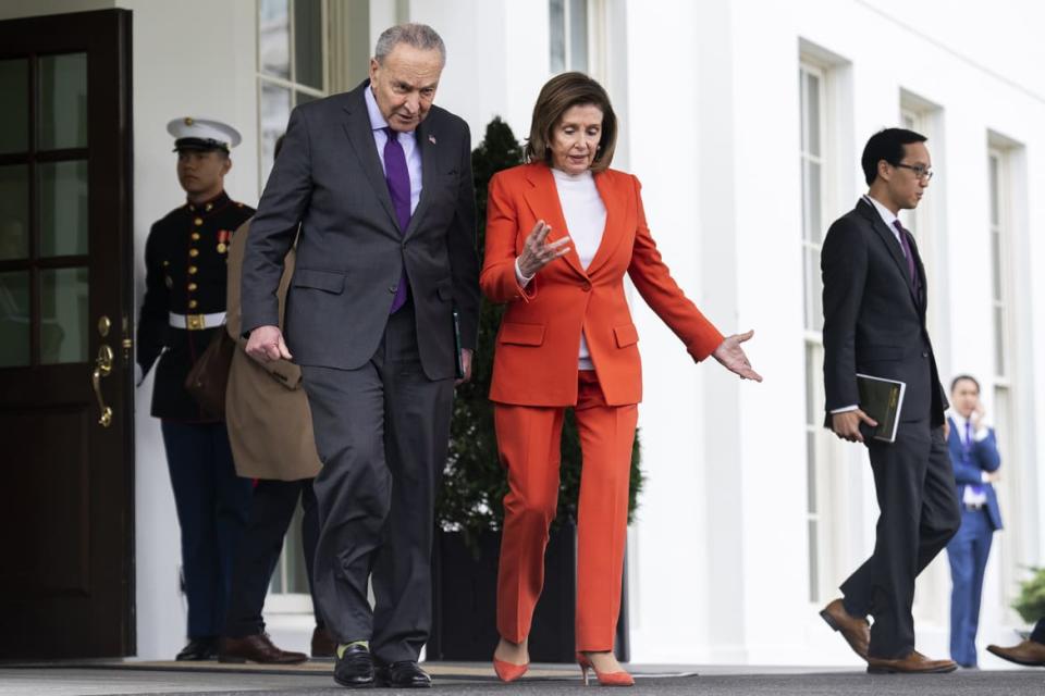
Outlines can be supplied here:
M257 80L254 0L120 0L134 12L135 296L145 289L143 253L152 223L184 203L167 123L225 121L243 145L232 152L225 190L257 206ZM206 18L206 21L204 21ZM136 393L135 563L138 656L170 659L184 645L179 591L181 542L159 421L149 415L151 374Z

